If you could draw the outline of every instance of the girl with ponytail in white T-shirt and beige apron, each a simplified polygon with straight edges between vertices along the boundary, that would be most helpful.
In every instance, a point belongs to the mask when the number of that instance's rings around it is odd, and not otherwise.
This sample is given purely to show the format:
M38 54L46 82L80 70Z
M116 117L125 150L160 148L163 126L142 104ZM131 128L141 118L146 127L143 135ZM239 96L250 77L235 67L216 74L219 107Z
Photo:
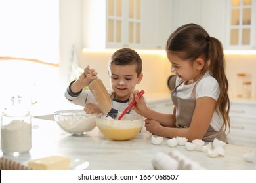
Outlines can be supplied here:
M161 114L147 108L143 97L135 95L133 108L147 118L146 130L163 137L186 137L188 141L213 141L216 137L227 142L230 101L221 42L200 25L186 24L170 35L166 52L171 71L177 75L171 92L175 107L173 114Z

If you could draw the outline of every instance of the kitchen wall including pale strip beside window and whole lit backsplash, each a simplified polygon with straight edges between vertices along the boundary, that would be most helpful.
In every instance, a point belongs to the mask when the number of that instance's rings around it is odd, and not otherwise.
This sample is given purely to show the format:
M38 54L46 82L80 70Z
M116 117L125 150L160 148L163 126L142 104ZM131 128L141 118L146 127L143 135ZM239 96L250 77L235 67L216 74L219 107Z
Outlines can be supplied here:
M80 67L90 65L94 67L101 78L110 88L108 78L108 59L112 52L82 52L81 27L81 0L60 1L60 86L62 91L68 86L70 80L70 65L72 61L72 46L77 50L77 58ZM163 51L164 52L164 51ZM147 93L169 93L167 78L171 75L170 63L164 54L144 54L142 57L144 78L138 86L138 90L145 90ZM226 75L230 82L230 98L237 95L237 73L251 75L252 97L256 98L256 55L226 55ZM146 95L146 93L145 93Z

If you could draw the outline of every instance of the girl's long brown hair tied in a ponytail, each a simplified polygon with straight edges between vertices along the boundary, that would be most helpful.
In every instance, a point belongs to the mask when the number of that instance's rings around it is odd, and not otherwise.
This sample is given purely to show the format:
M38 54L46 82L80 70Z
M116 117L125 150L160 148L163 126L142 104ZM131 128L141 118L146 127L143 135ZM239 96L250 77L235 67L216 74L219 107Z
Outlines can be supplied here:
M166 44L166 51L181 59L194 61L198 57L205 58L209 73L217 80L220 95L216 110L223 118L223 127L230 130L230 101L228 97L228 80L225 75L225 59L223 46L215 37L209 37L207 31L197 24L186 24L174 31Z

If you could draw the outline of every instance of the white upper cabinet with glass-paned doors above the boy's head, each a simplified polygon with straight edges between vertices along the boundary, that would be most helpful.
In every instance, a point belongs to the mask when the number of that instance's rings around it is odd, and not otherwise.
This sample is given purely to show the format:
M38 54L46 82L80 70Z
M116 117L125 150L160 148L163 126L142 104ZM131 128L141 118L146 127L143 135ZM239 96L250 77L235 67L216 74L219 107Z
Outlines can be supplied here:
M141 44L142 0L83 0L83 48L136 48Z

